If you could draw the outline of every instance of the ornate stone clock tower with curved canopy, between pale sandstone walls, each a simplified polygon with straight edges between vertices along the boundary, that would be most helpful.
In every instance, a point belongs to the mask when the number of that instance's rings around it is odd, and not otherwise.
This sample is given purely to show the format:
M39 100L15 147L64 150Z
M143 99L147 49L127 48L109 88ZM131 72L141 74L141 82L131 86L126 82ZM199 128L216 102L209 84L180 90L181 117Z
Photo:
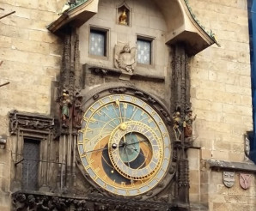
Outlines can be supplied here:
M183 0L65 6L47 27L64 46L52 84L54 127L47 124L42 148L54 160L40 166L47 197L17 192L16 210L19 203L28 210L34 197L37 210L190 211L189 62L214 36Z

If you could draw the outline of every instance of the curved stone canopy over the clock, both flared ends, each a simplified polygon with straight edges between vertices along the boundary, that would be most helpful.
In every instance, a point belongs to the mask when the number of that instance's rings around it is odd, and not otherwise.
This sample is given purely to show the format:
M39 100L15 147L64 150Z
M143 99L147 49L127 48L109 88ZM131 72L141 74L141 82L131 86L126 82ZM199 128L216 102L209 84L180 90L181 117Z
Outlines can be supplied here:
M217 44L212 33L207 33L204 28L195 20L187 0L153 0L168 26L165 34L166 44L174 45L184 43L189 56L195 55L210 45ZM80 27L98 12L99 0L83 0L76 6L64 11L56 21L53 21L48 30L52 33L59 33L64 27L72 25Z

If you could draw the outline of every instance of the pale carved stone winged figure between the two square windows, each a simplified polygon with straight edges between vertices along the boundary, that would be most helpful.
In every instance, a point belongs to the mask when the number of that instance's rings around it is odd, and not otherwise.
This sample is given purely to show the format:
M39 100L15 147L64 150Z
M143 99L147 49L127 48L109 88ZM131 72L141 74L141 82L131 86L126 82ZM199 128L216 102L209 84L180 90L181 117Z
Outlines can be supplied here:
M137 64L137 49L135 47L130 49L128 44L115 46L115 67L120 69L123 73L132 74Z

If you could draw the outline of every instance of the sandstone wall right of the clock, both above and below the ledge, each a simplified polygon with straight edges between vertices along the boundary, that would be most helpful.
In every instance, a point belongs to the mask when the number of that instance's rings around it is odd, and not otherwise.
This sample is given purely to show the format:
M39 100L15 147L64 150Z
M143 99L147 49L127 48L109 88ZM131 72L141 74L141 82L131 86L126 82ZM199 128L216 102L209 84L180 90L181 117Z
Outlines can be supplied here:
M201 159L243 162L243 135L253 130L247 1L190 0L189 4L221 45L191 59L192 106L198 115L194 137L201 147L189 152L191 200L209 210L255 210L253 174L252 187L242 190L235 171L235 186L228 189L222 183L223 170L200 165Z

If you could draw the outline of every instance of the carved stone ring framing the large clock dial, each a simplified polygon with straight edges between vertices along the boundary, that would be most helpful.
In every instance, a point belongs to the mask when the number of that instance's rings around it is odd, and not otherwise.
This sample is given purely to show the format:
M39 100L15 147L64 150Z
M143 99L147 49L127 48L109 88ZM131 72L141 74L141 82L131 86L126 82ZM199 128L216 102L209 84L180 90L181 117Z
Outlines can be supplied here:
M107 84L107 85L101 85L101 87L95 87L94 89L90 90L88 93L84 94L83 101L82 101L82 109L83 111L86 111L90 105L92 105L97 99L101 99L102 97L105 97L110 94L119 93L119 94L130 94L134 95L138 99L142 99L146 103L148 103L152 108L155 109L155 112L158 113L158 115L162 118L163 122L165 123L169 136L172 137L172 118L171 115L168 112L168 108L161 99L158 99L153 94L148 93L140 88L134 87L130 84L122 85L122 84ZM149 190L149 192L143 193L142 195L138 196L125 196L128 198L137 198L141 200L149 199L153 196L159 196L159 195L166 195L170 194L172 191L174 191L174 174L175 174L175 166L176 162L173 159L174 157L174 142L173 139L170 138L171 142L171 157L170 162L168 166L168 170L165 173L165 176L162 178L162 181L155 186L152 190ZM78 158L78 161L81 161L80 158ZM124 196L117 196L114 195L107 190L102 189L98 184L94 183L94 180L91 179L88 176L88 173L82 169L82 174L87 176L88 183L94 186L96 190L98 190L101 194L104 196L114 196L114 197L124 197Z

